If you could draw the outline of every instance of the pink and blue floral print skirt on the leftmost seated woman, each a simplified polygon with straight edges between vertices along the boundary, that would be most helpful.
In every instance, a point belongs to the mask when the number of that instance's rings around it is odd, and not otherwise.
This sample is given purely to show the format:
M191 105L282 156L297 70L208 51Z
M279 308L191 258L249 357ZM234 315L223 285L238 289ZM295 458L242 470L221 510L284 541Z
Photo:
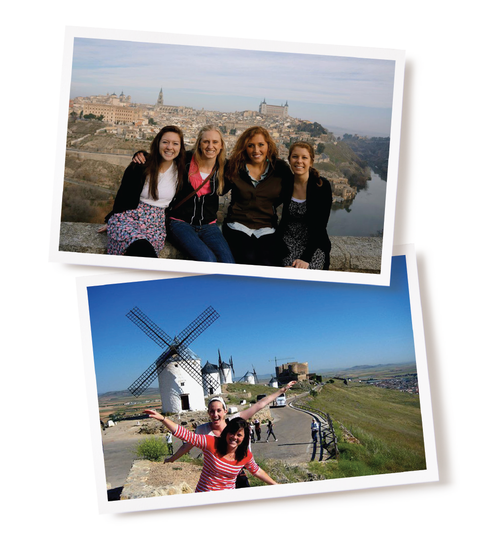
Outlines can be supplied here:
M157 254L165 244L165 209L142 201L137 209L115 213L108 221L108 254L123 256L135 240L146 239Z

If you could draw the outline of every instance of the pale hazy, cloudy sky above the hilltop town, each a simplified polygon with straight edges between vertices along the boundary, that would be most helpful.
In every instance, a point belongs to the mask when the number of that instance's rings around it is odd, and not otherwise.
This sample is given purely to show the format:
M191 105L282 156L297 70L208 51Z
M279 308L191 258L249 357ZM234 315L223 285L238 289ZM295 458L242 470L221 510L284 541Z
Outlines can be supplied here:
M342 134L389 136L395 62L105 39L74 40L70 97L116 93L134 103L258 110L288 100L290 116Z

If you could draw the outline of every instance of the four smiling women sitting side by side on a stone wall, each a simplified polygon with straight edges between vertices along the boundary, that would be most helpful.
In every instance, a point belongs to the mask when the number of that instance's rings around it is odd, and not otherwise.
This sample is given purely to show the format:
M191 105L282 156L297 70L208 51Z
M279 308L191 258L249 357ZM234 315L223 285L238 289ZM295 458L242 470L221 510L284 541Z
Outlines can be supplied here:
M312 167L309 143L293 143L288 160L263 127L241 133L226 160L217 126L203 127L192 151L180 128L165 126L149 153L133 157L98 232L108 233L108 254L156 258L168 230L196 261L328 270L331 186ZM229 191L221 232L219 196Z

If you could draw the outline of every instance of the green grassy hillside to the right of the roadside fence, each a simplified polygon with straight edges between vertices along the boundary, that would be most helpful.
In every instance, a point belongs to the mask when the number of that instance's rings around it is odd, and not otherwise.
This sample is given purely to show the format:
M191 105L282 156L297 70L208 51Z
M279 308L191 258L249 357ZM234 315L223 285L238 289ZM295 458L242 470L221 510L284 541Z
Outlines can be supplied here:
M338 461L313 463L313 472L340 478L426 468L419 395L335 380L302 402L329 413L340 451ZM338 422L361 443L346 442Z

